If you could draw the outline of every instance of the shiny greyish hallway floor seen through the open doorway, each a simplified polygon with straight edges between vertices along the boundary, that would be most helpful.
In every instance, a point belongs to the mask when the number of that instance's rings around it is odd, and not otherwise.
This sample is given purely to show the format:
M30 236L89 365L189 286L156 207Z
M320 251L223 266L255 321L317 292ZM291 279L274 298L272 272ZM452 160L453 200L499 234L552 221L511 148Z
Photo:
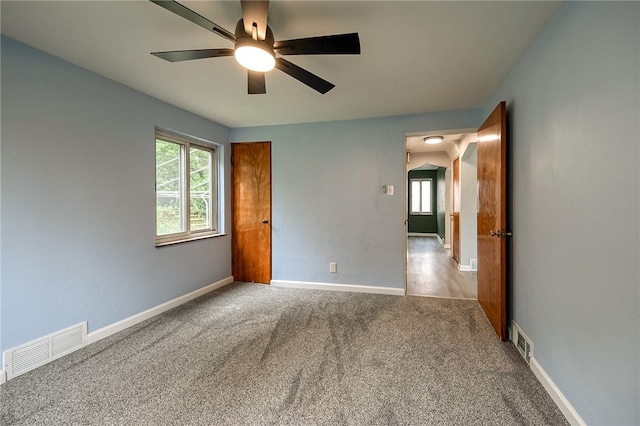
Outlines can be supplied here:
M477 299L477 272L461 272L435 237L408 237L407 295Z

